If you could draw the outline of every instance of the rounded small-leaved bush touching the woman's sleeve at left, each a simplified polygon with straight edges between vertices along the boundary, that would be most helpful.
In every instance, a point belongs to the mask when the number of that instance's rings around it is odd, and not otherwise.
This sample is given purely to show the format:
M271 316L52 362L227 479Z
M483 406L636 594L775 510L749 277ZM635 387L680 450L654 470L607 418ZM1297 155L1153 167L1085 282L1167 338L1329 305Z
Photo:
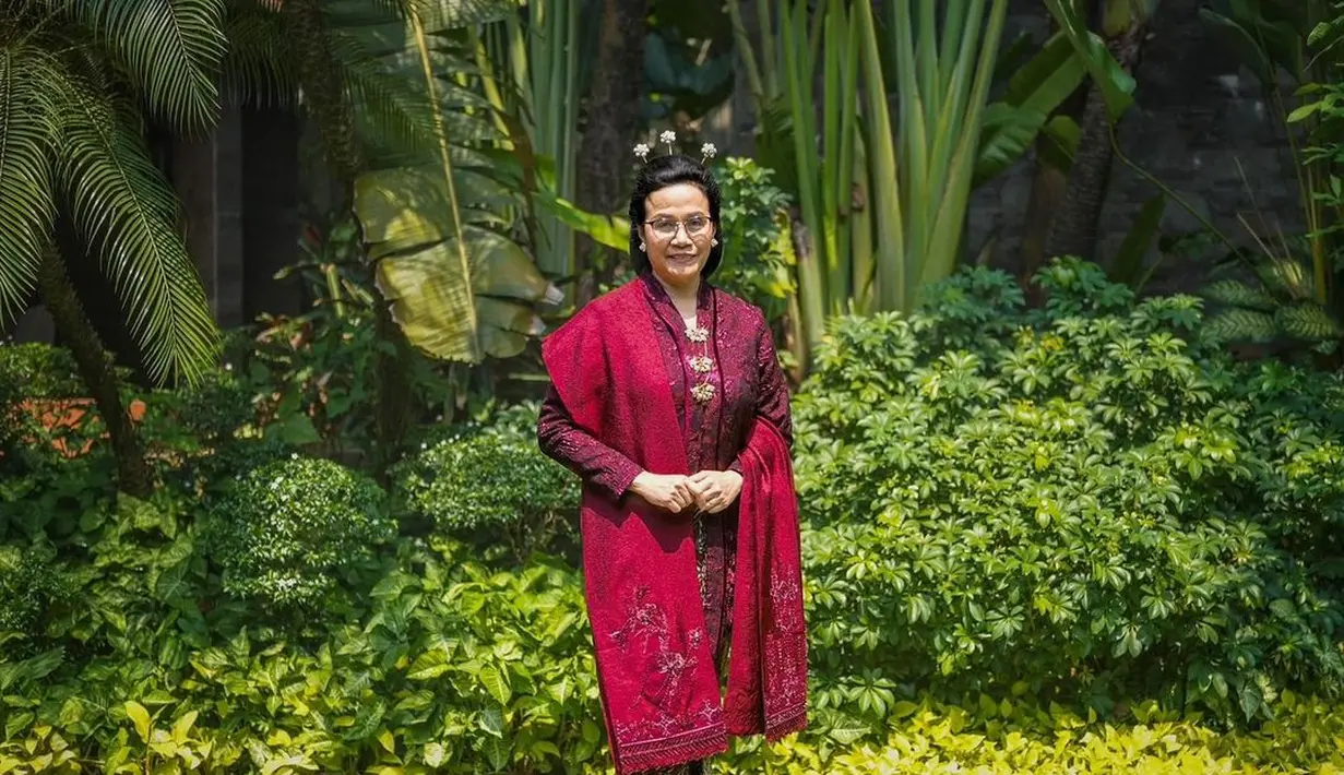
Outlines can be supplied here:
M538 404L511 407L488 423L453 426L394 471L405 508L437 531L516 556L550 548L569 532L578 480L536 446Z

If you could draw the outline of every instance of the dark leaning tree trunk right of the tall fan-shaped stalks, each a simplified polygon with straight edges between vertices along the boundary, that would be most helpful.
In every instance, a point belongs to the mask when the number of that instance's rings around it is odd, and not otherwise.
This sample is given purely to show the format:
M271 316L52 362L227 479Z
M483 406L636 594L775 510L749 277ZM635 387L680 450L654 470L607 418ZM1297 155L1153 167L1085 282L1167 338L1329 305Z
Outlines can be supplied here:
M1125 73L1133 73L1138 64L1146 34L1146 21L1138 21L1118 38L1107 40L1111 55ZM1074 154L1074 167L1068 172L1063 201L1046 240L1044 258L1077 255L1093 261L1097 250L1097 228L1106 200L1106 185L1110 183L1114 150L1110 145L1111 128L1106 98L1095 83L1087 89L1079 129L1078 153Z

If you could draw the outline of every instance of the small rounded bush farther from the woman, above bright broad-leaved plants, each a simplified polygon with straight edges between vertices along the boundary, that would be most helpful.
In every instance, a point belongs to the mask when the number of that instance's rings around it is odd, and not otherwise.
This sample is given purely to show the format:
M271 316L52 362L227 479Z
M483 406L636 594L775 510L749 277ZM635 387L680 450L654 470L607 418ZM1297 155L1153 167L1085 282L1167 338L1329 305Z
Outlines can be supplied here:
M263 603L314 604L341 572L395 536L372 480L324 459L281 459L246 474L216 506L214 556L224 591Z

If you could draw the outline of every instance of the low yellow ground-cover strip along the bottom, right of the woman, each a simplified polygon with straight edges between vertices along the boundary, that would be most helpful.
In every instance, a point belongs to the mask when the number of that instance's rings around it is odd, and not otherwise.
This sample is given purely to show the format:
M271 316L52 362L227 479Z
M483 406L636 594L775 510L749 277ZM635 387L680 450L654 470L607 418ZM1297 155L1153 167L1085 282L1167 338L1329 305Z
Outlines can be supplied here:
M777 775L1073 775L1344 772L1344 709L1285 692L1275 719L1254 732L1224 732L1198 713L1181 717L1144 702L1102 723L1059 706L995 702L980 708L899 702L887 745L835 752L806 733L766 751L750 745L724 771Z

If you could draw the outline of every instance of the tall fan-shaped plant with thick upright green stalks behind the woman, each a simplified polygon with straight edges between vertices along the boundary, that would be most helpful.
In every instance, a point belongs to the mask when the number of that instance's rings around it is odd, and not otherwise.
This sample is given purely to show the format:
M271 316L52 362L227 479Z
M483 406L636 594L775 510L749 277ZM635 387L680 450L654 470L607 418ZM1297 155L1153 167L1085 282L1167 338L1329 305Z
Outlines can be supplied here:
M1003 0L886 3L880 28L868 3L828 0L813 12L790 1L775 24L762 0L759 54L737 5L728 12L757 103L762 163L778 171L801 212L794 240L808 348L827 317L909 310L922 285L950 274L965 248L972 188L1031 148L1085 75L1056 35L991 101ZM808 87L818 74L820 126Z

